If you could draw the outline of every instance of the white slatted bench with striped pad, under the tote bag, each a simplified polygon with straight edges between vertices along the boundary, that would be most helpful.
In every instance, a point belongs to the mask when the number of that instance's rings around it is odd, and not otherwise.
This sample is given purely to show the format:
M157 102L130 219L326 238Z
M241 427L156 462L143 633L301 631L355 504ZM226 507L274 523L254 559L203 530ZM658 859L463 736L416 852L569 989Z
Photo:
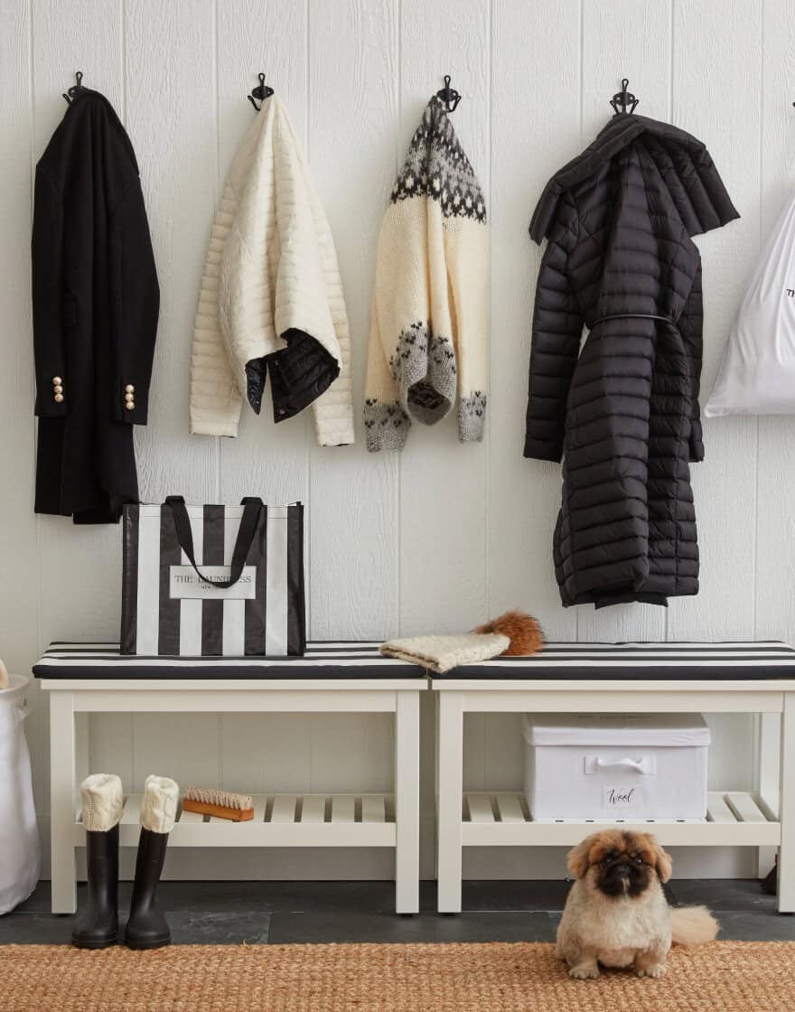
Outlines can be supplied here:
M76 909L90 713L385 712L394 714L393 794L259 794L254 821L239 824L182 812L169 846L391 847L395 911L417 913L420 692L428 681L422 668L380 657L378 646L311 643L302 658L270 660L122 657L116 644L53 644L33 668L50 693L53 912ZM138 843L140 806L140 794L124 799L122 847Z

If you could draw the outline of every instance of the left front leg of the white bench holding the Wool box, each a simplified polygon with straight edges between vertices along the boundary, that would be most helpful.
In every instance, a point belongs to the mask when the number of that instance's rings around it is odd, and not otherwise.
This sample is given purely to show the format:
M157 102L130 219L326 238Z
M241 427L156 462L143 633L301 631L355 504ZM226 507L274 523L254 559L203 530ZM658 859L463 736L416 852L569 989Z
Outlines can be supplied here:
M463 710L458 692L437 694L436 878L440 914L461 912Z

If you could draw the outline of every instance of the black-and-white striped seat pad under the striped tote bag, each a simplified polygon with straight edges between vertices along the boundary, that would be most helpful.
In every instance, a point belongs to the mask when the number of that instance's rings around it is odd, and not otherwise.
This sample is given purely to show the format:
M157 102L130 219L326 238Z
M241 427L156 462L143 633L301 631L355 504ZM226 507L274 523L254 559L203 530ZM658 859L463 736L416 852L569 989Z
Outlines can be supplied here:
M117 643L52 643L36 678L424 678L425 669L381 657L380 641L306 644L303 657L144 657Z

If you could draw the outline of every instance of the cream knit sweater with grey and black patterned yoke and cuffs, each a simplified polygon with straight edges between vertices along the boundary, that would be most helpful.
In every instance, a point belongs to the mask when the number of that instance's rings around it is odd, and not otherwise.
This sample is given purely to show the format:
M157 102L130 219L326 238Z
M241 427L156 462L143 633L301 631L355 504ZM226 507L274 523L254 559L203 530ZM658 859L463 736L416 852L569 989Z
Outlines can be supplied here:
M413 420L458 400L479 442L489 384L489 227L472 166L441 101L428 103L381 226L367 350L367 449L403 449Z

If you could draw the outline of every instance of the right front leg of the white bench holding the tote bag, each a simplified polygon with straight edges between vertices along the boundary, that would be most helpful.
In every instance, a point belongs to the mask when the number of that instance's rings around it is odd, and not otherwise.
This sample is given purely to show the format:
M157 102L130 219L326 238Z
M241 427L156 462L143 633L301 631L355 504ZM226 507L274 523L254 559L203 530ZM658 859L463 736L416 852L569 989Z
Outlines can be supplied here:
M420 694L399 692L394 713L394 911L420 910Z

